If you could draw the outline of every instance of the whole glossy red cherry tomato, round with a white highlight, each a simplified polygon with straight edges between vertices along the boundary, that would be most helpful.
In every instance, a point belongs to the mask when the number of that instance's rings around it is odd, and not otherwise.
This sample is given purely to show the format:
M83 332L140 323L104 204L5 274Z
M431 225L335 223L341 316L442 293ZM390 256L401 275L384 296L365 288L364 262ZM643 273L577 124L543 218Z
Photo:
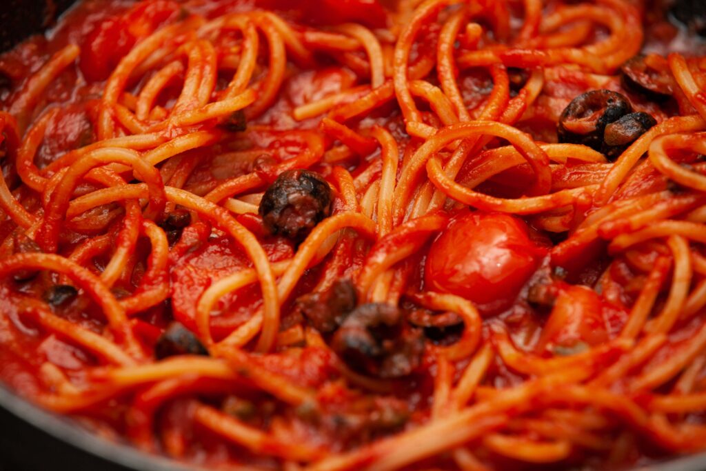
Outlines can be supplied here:
M546 249L528 237L522 220L462 213L431 244L426 288L457 294L484 314L496 314L512 304L545 255Z

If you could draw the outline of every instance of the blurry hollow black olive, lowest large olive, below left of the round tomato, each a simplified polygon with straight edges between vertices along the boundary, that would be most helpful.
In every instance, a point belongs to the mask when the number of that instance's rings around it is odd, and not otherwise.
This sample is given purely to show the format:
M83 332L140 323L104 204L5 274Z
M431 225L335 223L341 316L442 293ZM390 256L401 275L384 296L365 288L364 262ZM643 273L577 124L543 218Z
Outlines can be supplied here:
M331 348L355 371L400 378L421 364L424 337L403 321L396 306L369 303L348 315L331 338Z

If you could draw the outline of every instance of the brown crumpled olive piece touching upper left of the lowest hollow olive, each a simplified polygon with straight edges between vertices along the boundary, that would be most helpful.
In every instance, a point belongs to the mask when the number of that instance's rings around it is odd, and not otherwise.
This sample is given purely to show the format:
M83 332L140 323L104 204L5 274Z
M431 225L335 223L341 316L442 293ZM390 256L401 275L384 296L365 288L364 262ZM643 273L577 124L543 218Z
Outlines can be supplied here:
M345 278L336 280L324 292L304 294L297 298L297 307L313 328L321 333L331 333L355 309L357 299L353 282Z

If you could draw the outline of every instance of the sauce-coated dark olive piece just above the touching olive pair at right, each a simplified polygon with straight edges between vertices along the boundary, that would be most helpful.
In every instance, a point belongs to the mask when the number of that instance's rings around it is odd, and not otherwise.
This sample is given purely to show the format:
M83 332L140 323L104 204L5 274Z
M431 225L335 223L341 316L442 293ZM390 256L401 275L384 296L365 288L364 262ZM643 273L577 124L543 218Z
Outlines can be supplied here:
M629 59L620 68L623 86L635 93L642 93L650 100L664 101L674 93L674 78L664 58L664 69L655 68L647 56L639 54Z

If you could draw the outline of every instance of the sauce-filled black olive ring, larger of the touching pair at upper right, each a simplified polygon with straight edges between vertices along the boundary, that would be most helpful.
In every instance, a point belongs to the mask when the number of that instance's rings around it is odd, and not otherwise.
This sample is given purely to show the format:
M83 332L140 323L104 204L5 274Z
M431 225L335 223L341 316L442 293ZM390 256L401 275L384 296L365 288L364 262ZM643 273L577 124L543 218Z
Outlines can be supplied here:
M588 145L600 151L606 125L632 111L628 99L611 90L592 90L575 97L561 113L557 126L560 143Z

